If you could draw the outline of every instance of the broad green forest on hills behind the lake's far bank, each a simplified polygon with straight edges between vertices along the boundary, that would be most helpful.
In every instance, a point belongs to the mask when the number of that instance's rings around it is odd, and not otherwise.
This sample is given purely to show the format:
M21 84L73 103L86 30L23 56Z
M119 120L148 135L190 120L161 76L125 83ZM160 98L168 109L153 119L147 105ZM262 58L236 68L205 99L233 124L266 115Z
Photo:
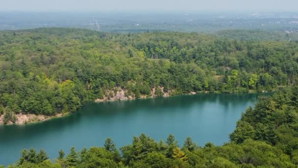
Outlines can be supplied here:
M119 90L138 99L267 92L297 84L298 41L228 37L77 28L0 31L0 115L14 123L21 112L75 112ZM247 122L240 125L246 128Z

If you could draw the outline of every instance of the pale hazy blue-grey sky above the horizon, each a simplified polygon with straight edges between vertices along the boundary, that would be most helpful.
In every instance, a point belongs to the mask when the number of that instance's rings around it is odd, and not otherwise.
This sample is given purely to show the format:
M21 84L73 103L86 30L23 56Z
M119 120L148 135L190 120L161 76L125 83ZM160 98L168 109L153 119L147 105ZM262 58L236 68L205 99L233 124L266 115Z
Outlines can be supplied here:
M0 11L298 11L298 0L0 0Z

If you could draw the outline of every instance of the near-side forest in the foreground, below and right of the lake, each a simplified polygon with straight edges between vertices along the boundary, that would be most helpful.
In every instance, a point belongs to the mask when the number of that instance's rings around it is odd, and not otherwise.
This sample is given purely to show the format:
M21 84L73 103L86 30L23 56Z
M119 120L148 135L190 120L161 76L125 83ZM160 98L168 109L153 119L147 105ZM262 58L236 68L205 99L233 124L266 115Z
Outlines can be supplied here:
M54 161L43 150L24 149L8 168L297 168L297 133L298 86L283 87L249 107L222 146L191 138L179 146L172 134L160 141L142 134L120 150L108 138L103 147L57 151Z

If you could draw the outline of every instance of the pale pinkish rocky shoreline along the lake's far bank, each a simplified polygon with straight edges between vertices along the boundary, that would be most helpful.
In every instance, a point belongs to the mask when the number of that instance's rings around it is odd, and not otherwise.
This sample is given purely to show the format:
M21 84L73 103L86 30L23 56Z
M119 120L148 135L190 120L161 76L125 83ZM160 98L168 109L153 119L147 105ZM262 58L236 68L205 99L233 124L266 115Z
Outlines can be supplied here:
M162 88L162 87L161 87ZM163 89L163 88L162 88ZM125 93L127 92L124 89L119 89L117 91L117 93L113 93L112 97L108 97L107 95L109 95L110 92L114 92L114 91L107 91L107 94L105 94L101 99L95 99L93 102L95 103L101 103L101 102L115 102L115 101L124 101L124 100L136 100L137 98L134 96L129 95L128 97L125 96ZM163 95L161 96L162 98L165 97L171 97L173 96L173 94L171 94L171 92L173 92L173 90L168 91L168 92L164 92ZM250 93L258 93L255 91L249 91L247 94ZM260 92L262 93L262 92ZM263 92L264 93L264 92ZM188 94L180 94L180 95L196 95L196 94L211 94L208 91L201 91L201 92L190 92ZM237 94L237 93L220 93L220 92L214 92L212 94ZM177 95L177 94L174 94ZM138 99L149 99L149 98L157 98L158 96L155 94L155 88L153 88L151 90L151 95L140 95L140 97ZM48 116L48 115L36 115L36 114L32 114L32 113L27 113L27 114L23 114L22 112L16 114L16 122L12 123L11 121L9 121L8 123L4 124L3 121L3 116L4 114L0 115L0 125L26 125L26 124L33 124L33 123L38 123L38 122L44 122L53 118L61 118L64 116L67 116L69 114L71 114L72 112L65 112L65 113L57 113L55 115L52 116Z

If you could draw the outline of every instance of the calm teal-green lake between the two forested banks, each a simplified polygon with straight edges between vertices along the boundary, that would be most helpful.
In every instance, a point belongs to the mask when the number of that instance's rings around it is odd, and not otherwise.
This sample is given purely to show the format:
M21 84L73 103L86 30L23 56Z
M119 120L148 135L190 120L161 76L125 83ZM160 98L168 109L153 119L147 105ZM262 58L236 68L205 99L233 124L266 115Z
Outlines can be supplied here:
M235 129L241 112L254 106L259 95L201 94L180 95L131 101L88 103L67 117L29 125L0 126L0 165L16 162L22 149L35 148L50 159L66 154L72 146L103 146L112 138L117 147L131 144L142 133L154 140L166 140L173 134L179 145L186 137L204 145L222 145Z

